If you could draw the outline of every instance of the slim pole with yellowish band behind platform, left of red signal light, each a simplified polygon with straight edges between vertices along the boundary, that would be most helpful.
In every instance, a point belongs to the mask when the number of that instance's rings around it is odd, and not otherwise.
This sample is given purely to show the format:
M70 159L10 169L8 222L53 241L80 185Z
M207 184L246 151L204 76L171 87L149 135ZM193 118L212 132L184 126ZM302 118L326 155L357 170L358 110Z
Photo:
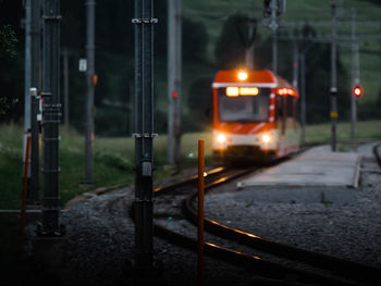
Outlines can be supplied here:
M336 72L336 1L331 0L331 133L332 151L336 151L336 123L337 123L337 72Z

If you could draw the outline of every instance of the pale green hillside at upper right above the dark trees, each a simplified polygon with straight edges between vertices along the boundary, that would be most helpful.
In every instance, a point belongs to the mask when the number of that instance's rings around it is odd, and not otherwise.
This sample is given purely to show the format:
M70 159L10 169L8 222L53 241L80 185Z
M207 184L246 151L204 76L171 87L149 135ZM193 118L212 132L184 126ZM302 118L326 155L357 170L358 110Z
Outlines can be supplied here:
M337 0L340 10L337 15L340 21L351 21L351 9L356 9L357 21L381 21L381 5L364 0ZM214 45L221 34L224 21L233 14L241 13L258 20L262 18L262 1L248 0L185 0L183 2L184 16L193 21L201 22L208 30L209 45L208 58L214 61ZM288 0L286 3L286 13L282 20L291 21L327 21L331 17L330 1L316 0ZM330 35L330 27L316 27L323 35ZM292 32L293 28L287 28ZM378 34L381 35L380 27L358 26L358 34ZM260 38L270 35L269 29L260 26L258 28ZM339 27L340 35L351 35L351 26ZM280 43L281 48L281 43ZM341 43L339 48L341 59L345 67L351 72L351 45ZM367 39L360 42L360 79L364 86L365 96L360 103L374 101L381 90L381 39ZM340 75L339 75L340 80Z

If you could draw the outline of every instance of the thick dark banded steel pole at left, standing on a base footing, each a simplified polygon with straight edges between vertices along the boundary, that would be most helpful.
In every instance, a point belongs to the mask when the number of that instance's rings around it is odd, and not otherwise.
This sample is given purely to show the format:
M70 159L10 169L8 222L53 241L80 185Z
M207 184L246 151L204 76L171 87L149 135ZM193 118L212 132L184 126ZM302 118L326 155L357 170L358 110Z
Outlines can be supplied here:
M42 142L44 197L41 235L59 229L60 0L44 1Z

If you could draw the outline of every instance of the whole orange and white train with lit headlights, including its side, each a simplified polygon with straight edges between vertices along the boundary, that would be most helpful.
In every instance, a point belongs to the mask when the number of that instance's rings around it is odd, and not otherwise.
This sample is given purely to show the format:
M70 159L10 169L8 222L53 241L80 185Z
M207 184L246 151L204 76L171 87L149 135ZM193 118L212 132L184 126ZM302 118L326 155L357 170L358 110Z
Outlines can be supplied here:
M214 160L272 162L299 149L299 94L268 70L222 70L212 82Z

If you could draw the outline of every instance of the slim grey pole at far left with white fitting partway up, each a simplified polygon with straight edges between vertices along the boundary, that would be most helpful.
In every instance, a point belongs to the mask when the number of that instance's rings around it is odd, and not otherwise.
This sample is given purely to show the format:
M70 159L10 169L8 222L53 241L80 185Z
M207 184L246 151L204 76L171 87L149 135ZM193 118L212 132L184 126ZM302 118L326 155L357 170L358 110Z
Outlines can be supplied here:
M40 0L32 1L30 5L30 185L28 191L28 202L39 203L39 97L41 89L41 13ZM35 90L35 91L34 91Z

